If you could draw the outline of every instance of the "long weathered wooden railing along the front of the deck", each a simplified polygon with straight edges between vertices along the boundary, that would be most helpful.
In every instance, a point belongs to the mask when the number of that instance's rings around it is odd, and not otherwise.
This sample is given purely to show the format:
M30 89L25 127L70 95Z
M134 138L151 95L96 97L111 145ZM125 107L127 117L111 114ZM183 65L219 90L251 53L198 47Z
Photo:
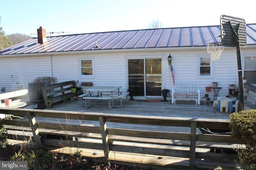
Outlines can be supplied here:
M224 169L236 167L236 154L223 153L223 149L233 150L238 147L235 139L230 135L202 134L197 131L200 127L229 129L229 120L226 119L7 108L1 108L0 112L22 116L24 119L4 119L9 136L18 138L30 135L37 147L103 150L105 158L109 160L151 164L150 167L159 166L158 169L173 166L215 168L220 165ZM90 125L92 122L93 125ZM120 128L111 127L113 123L120 125ZM177 131L157 131L158 126L174 127ZM141 127L147 127L148 130L141 130ZM179 132L182 128L188 129L188 133ZM54 138L48 138L49 135ZM91 140L83 142L82 139ZM210 149L222 149L222 153L210 152ZM127 159L118 157L118 153L126 154ZM145 163L146 159L136 159L138 155L151 155L154 159ZM175 158L178 161L175 162Z

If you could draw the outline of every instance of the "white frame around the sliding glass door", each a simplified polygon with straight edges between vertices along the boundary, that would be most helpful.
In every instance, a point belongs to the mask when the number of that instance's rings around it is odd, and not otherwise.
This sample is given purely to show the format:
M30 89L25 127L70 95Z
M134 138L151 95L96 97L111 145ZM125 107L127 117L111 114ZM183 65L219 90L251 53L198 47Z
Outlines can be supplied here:
M144 61L146 59L161 59L161 72L162 72L162 89L163 87L165 87L165 55L134 55L134 56L125 56L125 63L126 63L126 87L129 87L129 76L128 76L128 60L129 59L144 59ZM144 62L144 65L146 63ZM145 68L144 68L144 74L145 73ZM146 80L146 77L144 76L144 81ZM144 83L144 96L133 96L134 99L162 99L162 96L146 96L146 81Z

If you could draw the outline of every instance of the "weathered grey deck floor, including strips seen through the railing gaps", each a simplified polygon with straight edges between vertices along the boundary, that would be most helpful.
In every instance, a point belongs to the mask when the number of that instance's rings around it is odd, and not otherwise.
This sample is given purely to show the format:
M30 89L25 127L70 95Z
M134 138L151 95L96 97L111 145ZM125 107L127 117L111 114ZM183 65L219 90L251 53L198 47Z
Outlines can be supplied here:
M176 105L170 104L168 102L155 102L153 100L134 100L134 101L123 101L123 107L113 107L108 109L108 102L98 100L92 100L91 107L87 108L83 104L81 106L80 100L77 101L73 98L65 103L60 103L54 105L50 110L60 110L60 111L83 111L83 112L93 112L93 113L111 113L111 114L121 114L121 115L142 115L142 116L161 116L161 117L184 117L189 119L228 119L230 113L219 112L217 109L213 108L213 105L195 105L194 101L177 101ZM118 106L118 99L114 100L114 106ZM49 109L47 109L49 110ZM60 123L65 123L66 119L48 119L48 118L37 118L39 122L49 122L58 121ZM98 121L74 121L68 122L72 125L81 124L92 124L94 126L99 126ZM148 125L136 125L136 124L120 124L120 123L109 123L108 127L112 128L125 128L125 129L140 129L140 130L154 130L154 131L164 131L164 132L178 132L178 133L190 133L190 128L187 127L166 127L166 126L148 126ZM199 129L196 133L201 133Z

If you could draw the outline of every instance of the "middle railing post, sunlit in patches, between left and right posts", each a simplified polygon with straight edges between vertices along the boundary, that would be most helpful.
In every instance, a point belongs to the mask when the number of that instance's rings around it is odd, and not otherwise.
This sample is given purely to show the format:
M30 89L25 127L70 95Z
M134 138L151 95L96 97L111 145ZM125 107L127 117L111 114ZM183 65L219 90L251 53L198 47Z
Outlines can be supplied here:
M102 116L99 117L100 121L100 133L102 138L102 145L104 148L104 154L106 158L109 158L110 155L110 149L109 149L109 143L108 143L108 133L107 133L107 124L106 119Z

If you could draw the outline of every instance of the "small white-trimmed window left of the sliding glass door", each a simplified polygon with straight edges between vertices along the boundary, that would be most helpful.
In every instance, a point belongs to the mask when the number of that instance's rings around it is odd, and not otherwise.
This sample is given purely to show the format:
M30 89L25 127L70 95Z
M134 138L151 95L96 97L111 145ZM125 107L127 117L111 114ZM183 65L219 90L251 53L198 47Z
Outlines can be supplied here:
M80 59L80 76L94 76L93 59Z

